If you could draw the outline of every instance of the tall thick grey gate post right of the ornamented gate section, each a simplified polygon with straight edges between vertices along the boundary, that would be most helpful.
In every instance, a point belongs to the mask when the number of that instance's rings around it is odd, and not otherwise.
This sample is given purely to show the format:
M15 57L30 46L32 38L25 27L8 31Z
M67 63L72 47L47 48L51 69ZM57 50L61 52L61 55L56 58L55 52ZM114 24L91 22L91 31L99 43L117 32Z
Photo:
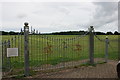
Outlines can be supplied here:
M89 28L89 59L90 63L94 64L94 33L93 33L93 26Z

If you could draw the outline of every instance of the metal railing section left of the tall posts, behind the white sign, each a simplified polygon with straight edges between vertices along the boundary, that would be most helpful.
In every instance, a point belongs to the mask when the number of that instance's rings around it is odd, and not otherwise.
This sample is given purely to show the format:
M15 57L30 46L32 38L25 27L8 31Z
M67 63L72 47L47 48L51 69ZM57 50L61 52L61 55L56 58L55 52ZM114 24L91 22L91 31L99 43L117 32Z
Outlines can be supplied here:
M24 68L24 41L23 35L3 35L2 42L2 72L5 75L14 75ZM8 48L17 48L18 56L8 57Z

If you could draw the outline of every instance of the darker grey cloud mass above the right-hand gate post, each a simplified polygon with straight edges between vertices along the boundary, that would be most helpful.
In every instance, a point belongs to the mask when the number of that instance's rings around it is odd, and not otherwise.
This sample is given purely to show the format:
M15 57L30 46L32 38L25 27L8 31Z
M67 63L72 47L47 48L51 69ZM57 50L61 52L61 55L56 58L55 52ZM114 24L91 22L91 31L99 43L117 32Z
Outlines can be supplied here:
M94 15L88 25L93 25L96 28L103 27L108 28L113 26L117 29L117 24L107 25L116 23L118 20L118 3L117 2L93 2L96 6Z

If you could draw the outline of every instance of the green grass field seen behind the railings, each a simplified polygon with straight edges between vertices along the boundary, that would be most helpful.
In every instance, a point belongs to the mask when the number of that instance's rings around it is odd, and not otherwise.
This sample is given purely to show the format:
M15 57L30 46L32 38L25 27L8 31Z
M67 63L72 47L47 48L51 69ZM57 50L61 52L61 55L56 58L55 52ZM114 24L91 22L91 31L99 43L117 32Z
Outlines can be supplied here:
M11 40L15 38L16 40ZM48 36L45 37L45 36ZM108 51L109 59L118 58L117 35L107 35L110 40ZM106 35L99 35L100 39L105 39ZM11 63L15 68L24 66L24 39L23 35L3 35L2 41L10 40L10 47L19 49L19 56L4 58L4 64ZM3 48L4 49L4 48ZM3 50L5 56L5 50ZM105 57L105 42L94 37L94 57ZM43 64L56 65L61 62L77 61L89 59L89 37L79 37L78 35L30 35L29 36L29 58L31 66L41 66Z

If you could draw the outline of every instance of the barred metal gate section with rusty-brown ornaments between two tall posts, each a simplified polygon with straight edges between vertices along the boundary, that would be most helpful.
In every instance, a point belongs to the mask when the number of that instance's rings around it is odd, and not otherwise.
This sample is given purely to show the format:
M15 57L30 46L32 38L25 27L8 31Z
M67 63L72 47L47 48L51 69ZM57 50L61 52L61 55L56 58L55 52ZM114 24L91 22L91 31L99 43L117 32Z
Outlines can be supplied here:
M84 59L89 58L87 34L88 32L84 35L31 33L30 66L35 70L46 70L80 65L85 62Z

